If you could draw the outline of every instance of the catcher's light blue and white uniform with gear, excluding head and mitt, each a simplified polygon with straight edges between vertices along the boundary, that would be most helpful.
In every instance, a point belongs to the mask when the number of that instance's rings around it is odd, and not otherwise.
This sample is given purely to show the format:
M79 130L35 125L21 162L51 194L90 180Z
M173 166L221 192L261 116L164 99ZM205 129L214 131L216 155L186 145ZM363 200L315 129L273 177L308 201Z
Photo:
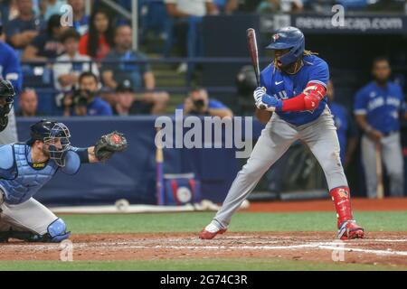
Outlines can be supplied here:
M31 144L29 141L0 146L0 241L20 238L60 242L70 236L65 223L33 196L56 172L78 172L80 164L87 163L87 149L68 145L65 154L61 154L62 166L52 158L46 163L33 163Z

